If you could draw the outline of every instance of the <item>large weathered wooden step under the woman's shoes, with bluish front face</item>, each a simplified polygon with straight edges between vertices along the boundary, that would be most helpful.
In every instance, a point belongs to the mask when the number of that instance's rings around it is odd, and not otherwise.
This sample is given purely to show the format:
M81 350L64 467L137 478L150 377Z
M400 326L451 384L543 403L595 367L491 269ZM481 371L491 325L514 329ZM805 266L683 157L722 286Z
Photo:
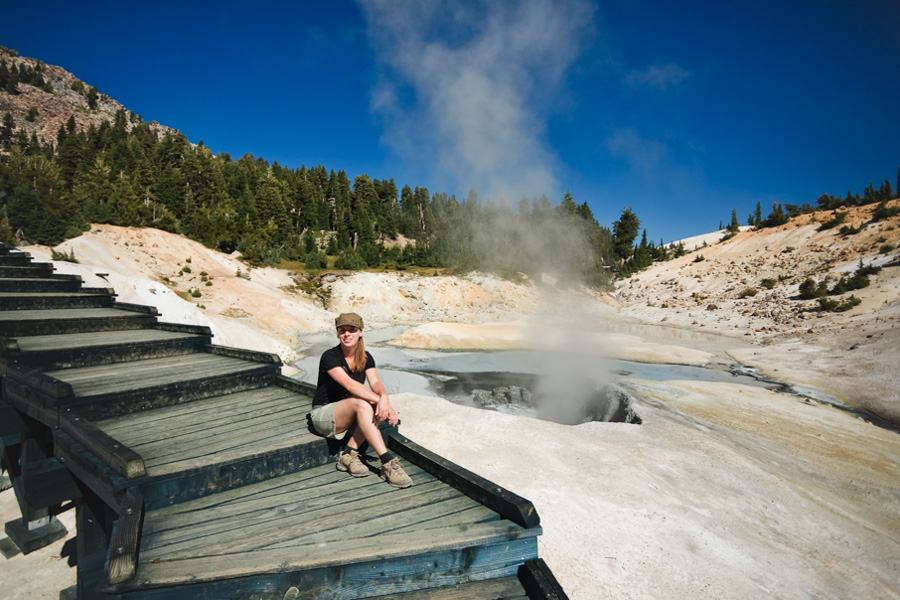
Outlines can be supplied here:
M145 513L137 576L109 593L170 598L364 598L515 576L526 529L405 464L397 490L332 464ZM132 596L128 596L132 597Z

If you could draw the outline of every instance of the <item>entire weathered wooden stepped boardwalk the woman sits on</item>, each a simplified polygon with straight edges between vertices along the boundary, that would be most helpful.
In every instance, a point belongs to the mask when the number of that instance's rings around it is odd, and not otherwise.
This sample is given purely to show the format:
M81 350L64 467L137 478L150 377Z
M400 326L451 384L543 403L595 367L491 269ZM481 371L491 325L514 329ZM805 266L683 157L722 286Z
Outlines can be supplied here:
M412 487L336 471L280 367L0 246L7 535L74 506L82 599L565 598L530 502L396 428Z

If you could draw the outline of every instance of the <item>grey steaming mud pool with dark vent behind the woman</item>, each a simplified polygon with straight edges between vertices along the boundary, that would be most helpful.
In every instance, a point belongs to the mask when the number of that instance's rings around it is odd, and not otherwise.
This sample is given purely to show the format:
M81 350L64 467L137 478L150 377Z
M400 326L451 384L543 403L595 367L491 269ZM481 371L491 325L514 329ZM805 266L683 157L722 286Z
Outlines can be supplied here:
M586 421L641 423L627 386L620 385L628 379L785 387L759 380L740 365L725 370L608 359L586 363L541 351L418 350L386 344L397 335L398 328L366 332L366 348L375 358L388 393L440 396L457 404L569 425ZM293 364L299 370L295 377L315 384L319 357L336 340L322 335L307 341L310 345L303 349L306 358Z

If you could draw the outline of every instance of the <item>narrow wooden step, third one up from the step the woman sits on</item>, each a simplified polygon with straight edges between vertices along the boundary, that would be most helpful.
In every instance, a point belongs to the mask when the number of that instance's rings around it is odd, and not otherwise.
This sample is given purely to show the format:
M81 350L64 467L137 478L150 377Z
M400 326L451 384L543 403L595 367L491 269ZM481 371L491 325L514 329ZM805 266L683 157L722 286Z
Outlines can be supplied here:
M0 280L0 283L3 281ZM0 311L0 335L19 337L121 331L150 327L155 320L152 314L117 308L4 310Z

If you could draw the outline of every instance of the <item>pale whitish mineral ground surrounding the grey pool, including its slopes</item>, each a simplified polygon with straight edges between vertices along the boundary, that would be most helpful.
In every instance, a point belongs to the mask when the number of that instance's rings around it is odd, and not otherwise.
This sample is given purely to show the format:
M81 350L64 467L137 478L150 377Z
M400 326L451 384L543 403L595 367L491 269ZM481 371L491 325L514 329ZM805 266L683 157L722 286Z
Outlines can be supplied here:
M866 218L855 209L847 224ZM250 270L184 237L112 226L64 243L59 249L74 250L80 264L56 266L115 288L120 301L157 306L163 320L208 324L217 343L276 351L286 363L303 358L304 340L327 339L337 313L354 310L370 339L379 328L412 326L393 340L398 347L539 341L647 362L739 361L900 422L900 267L891 263L896 251L879 254L884 243L900 245L898 218L852 236L817 228L805 217L722 244L707 236L712 245L654 265L611 296L571 289L542 297L536 286L487 276L360 273L326 282L324 310L284 271ZM25 250L49 258L47 248ZM695 262L698 254L704 260ZM854 292L858 307L820 313L810 310L814 301L792 299L807 275L849 273L859 258L885 266ZM779 276L792 278L760 287ZM760 291L739 298L746 287ZM565 328L536 329L560 316ZM534 503L540 556L573 600L900 598L896 429L749 385L620 384L643 424L566 426L408 392L393 400L405 435ZM0 494L0 513L19 516L12 491ZM62 517L70 538L72 517ZM62 544L0 559L3 597L55 599L74 585Z

